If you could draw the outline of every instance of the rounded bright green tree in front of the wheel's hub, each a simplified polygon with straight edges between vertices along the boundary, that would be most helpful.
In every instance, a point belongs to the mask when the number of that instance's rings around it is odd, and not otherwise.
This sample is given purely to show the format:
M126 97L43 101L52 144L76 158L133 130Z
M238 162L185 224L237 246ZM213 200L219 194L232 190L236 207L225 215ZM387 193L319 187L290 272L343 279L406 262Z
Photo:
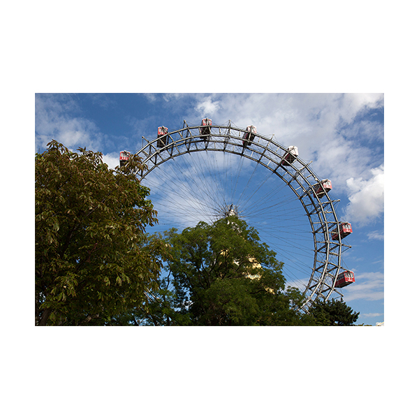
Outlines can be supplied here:
M286 288L282 263L235 216L166 234L172 258L148 324L308 325L302 295ZM158 322L156 321L158 316Z

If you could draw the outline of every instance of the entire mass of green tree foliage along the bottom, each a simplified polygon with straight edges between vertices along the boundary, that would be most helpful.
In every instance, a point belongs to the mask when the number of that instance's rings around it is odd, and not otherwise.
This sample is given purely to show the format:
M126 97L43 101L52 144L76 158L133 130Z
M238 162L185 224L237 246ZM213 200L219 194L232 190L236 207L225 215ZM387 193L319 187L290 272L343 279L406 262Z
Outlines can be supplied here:
M36 154L36 325L351 325L344 302L302 314L282 263L255 229L229 216L150 237L157 222L132 156L52 140ZM163 270L163 271L162 271ZM161 274L163 272L163 274Z

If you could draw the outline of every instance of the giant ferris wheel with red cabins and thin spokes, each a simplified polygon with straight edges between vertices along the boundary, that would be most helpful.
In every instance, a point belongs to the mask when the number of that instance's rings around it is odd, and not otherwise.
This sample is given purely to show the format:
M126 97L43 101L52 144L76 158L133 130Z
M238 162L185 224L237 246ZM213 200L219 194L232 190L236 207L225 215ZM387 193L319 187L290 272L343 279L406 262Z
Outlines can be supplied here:
M316 300L342 296L341 288L355 282L342 266L351 224L338 219L330 180L318 177L296 146L285 147L253 125L205 118L175 131L160 126L135 154L147 166L137 175L150 188L161 230L239 216L284 262L288 284L304 293L304 311ZM126 159L121 152L121 163Z

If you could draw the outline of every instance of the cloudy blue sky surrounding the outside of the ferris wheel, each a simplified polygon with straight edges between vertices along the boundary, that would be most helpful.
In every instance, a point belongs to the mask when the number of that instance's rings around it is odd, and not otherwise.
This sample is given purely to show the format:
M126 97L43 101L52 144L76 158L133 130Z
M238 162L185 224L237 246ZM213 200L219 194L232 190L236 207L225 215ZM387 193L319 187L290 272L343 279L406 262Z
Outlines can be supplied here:
M239 127L253 124L258 133L274 134L286 147L296 145L300 158L313 162L316 175L332 180L330 196L340 200L339 217L353 226L344 266L355 272L356 282L343 289L344 300L360 311L358 323L384 321L383 94L36 94L35 110L37 152L54 138L73 150L102 152L110 167L117 166L120 150L137 152L142 136L155 138L158 126L173 131L182 128L184 120L194 125L203 117L214 124L229 120ZM195 174L198 170L205 177L203 162L194 159ZM176 182L180 189L183 181ZM272 179L258 182L263 194L277 187ZM298 211L291 201L289 208ZM254 210L247 214L249 223L263 220L263 213L256 214ZM302 218L293 222L300 221L304 223ZM263 230L261 223L256 228ZM282 257L285 267L292 264L289 253ZM291 283L303 281L304 274L297 279L284 269L286 276L287 272Z

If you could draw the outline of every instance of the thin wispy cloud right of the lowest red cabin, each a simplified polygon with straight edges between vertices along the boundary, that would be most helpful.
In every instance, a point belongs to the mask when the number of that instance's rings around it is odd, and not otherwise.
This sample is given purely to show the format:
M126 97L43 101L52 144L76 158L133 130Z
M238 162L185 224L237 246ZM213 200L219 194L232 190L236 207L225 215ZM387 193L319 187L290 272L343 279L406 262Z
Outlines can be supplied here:
M383 272L355 272L355 284L344 288L344 300L382 300L384 297Z

